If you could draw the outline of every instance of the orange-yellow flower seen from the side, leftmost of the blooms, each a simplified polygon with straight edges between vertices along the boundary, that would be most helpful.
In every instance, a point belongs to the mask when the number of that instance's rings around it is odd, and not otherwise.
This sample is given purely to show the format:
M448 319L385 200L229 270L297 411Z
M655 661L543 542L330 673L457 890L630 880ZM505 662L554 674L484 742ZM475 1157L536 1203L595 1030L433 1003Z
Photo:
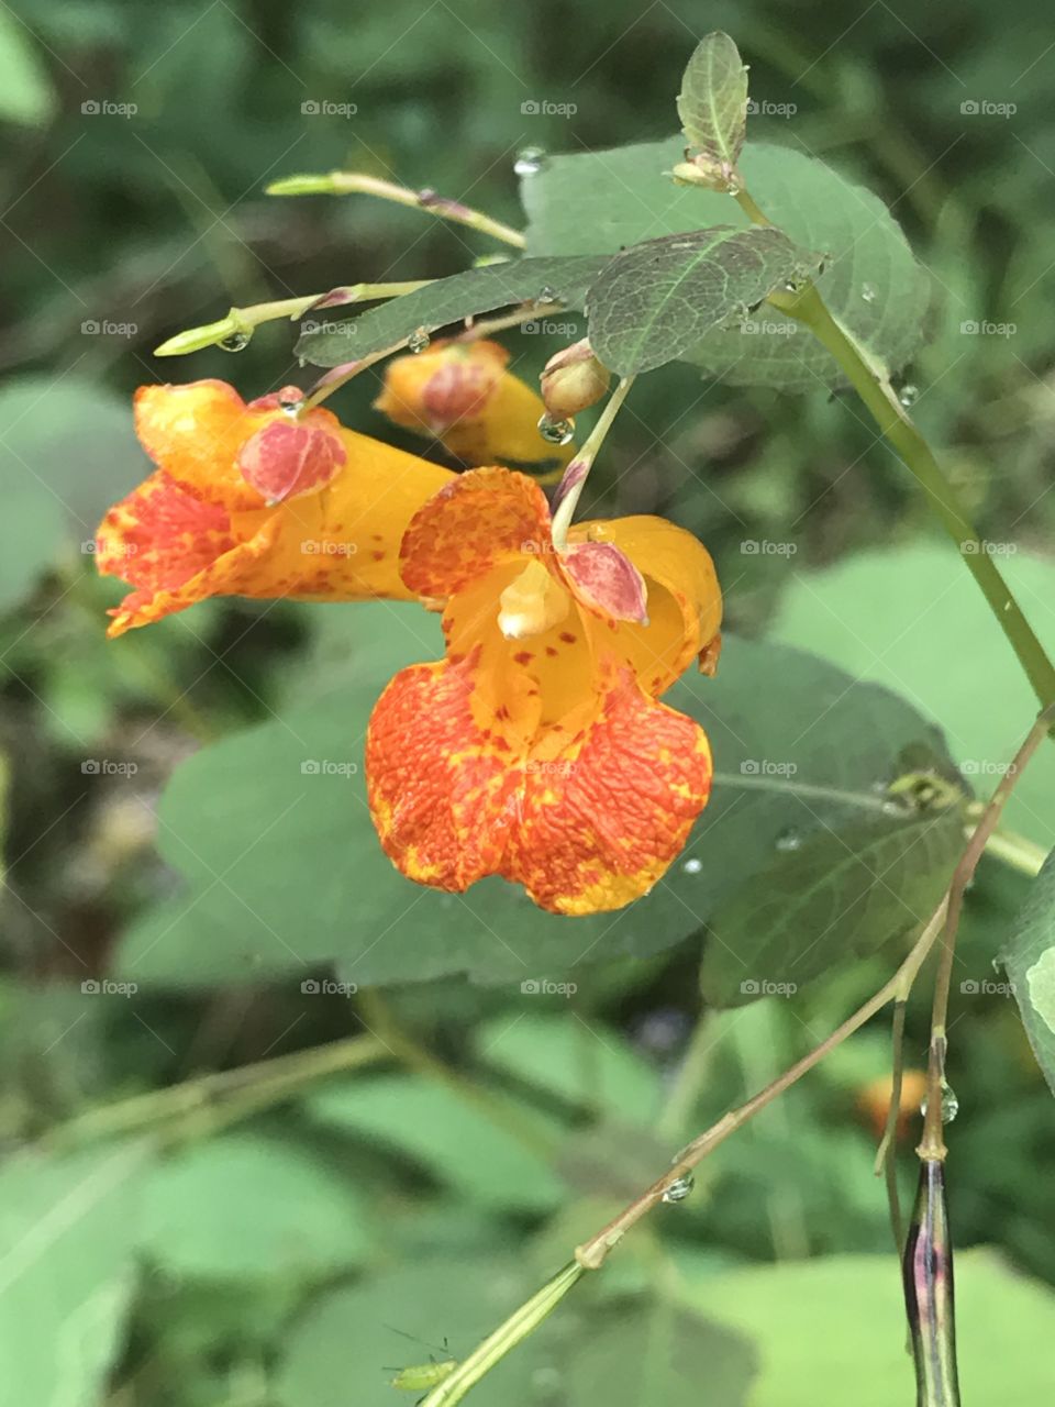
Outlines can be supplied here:
M158 470L98 528L98 570L135 588L111 612L111 636L215 595L412 597L399 539L453 476L329 411L291 418L280 402L297 397L246 405L225 381L136 393L136 433Z

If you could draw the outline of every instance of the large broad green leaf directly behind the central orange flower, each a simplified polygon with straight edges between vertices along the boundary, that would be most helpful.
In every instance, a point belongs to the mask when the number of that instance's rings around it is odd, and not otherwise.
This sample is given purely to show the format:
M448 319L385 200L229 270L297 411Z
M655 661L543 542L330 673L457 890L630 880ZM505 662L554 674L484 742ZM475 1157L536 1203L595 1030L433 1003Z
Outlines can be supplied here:
M568 919L497 878L464 895L439 893L384 858L359 771L367 718L397 657L439 654L439 643L428 643L435 618L412 605L326 609L346 615L353 639L383 622L381 667L353 651L343 688L331 675L325 696L205 747L176 771L159 841L188 886L125 936L118 967L127 978L194 986L270 975L300 989L312 965L333 962L360 986L466 972L537 1003L540 979L585 989L591 964L661 953L701 933L741 886L764 892L774 868L788 879L796 855L778 847L788 830L803 843L851 823L857 841L862 822L869 844L902 829L919 836L926 822L888 812L882 789L916 767L951 768L937 730L895 695L807 654L734 639L716 680L689 674L665 696L708 729L717 774L684 855L651 895L619 913ZM779 698L779 709L762 708L767 698ZM308 774L308 763L326 765ZM798 771L772 774L771 764ZM947 877L928 872L930 858L920 846L907 864L937 900ZM889 936L895 919L909 922L882 884L874 898L865 929ZM761 975L743 969L743 979Z

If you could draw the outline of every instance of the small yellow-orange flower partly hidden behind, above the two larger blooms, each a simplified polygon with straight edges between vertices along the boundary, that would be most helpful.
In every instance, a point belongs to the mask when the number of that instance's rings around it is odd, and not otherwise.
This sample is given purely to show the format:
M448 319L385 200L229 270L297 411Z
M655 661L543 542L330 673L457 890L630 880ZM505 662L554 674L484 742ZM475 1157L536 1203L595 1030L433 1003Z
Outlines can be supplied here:
M508 362L497 342L436 342L388 363L374 408L404 429L440 440L466 464L558 477L574 445L542 438L542 397L506 370Z

